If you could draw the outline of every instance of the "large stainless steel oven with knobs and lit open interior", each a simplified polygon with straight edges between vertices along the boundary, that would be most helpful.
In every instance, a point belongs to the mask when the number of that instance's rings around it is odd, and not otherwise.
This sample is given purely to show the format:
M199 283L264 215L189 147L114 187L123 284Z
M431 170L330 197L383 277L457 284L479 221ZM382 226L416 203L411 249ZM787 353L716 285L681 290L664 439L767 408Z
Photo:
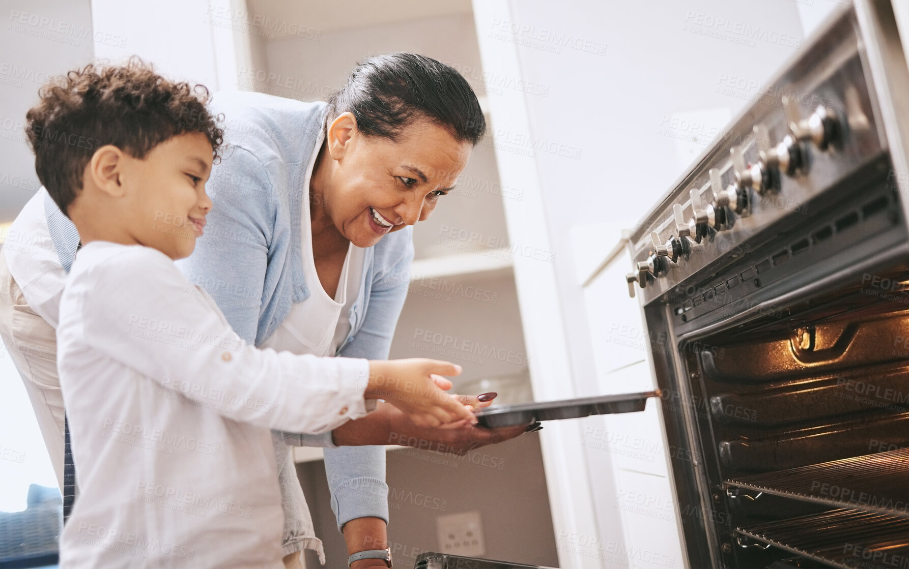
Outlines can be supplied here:
M900 0L902 1L902 0ZM844 6L634 230L692 568L909 568L909 71Z

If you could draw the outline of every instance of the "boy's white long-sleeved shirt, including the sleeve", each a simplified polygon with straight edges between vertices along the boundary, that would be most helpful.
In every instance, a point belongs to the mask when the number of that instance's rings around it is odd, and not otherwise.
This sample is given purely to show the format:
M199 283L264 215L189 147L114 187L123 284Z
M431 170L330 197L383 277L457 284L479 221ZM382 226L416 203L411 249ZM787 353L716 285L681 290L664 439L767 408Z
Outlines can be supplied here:
M269 430L324 433L368 412L367 360L245 345L141 245L79 251L57 365L80 488L62 567L282 567Z

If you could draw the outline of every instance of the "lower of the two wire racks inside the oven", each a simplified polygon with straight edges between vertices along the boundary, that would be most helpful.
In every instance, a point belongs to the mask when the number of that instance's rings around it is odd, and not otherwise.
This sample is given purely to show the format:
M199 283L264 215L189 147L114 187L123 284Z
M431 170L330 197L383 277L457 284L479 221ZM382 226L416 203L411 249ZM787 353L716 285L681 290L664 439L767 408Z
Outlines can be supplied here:
M774 545L839 569L909 565L909 519L837 509L735 528L742 547Z

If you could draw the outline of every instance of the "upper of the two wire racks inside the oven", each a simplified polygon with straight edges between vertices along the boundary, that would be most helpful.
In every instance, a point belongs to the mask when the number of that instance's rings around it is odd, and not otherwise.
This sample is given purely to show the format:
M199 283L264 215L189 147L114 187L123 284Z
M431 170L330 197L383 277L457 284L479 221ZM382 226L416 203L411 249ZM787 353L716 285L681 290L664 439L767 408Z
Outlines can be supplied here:
M726 480L734 488L909 518L909 448ZM756 496L754 496L756 498ZM907 562L909 567L909 562Z

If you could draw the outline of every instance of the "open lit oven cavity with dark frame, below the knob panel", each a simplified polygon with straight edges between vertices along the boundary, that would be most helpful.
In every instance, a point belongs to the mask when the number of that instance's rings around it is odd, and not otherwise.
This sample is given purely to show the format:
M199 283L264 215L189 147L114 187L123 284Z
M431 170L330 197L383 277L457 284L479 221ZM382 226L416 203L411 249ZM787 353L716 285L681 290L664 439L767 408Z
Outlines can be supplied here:
M889 172L870 163L645 307L676 348L654 366L669 443L689 450L672 460L692 567L909 567L909 255Z

